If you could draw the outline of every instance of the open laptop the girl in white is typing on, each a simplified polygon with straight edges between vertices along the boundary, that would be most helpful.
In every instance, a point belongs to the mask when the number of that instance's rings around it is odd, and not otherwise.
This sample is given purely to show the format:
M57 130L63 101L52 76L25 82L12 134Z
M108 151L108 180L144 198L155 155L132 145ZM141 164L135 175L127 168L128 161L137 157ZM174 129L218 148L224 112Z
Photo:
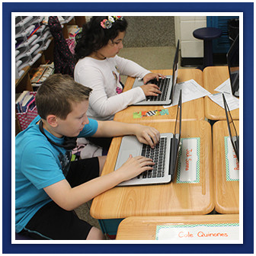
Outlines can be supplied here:
M178 40L176 52L174 56L173 66L172 66L172 75L167 75L166 78L159 78L158 81L156 79L150 80L148 84L158 85L161 94L158 96L147 96L146 100L139 101L133 105L169 105L173 101L175 85L177 82L178 76L178 50L179 50L180 40ZM140 78L136 78L133 83L133 88L142 86L143 80Z

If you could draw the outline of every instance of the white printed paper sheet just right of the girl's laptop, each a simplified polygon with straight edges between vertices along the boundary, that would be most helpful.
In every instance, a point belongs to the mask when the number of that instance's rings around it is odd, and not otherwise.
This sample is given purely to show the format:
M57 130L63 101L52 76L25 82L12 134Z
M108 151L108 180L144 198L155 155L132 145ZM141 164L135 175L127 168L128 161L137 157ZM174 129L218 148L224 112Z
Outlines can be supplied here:
M182 103L187 101L193 101L197 98L202 98L204 96L210 95L209 91L206 91L201 85L199 85L194 79L190 79L186 82L180 82L176 84L174 90L174 98L171 105L163 107L172 107L178 104L178 99L180 96L180 91L182 90Z

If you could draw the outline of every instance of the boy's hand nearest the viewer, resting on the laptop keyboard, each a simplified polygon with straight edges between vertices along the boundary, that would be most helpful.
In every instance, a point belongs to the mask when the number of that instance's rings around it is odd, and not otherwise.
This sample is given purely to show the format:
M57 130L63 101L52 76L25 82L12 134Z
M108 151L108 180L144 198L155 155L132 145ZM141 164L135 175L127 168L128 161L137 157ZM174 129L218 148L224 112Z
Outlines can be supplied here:
M152 170L151 165L155 165L155 163L150 158L140 155L133 158L133 155L130 155L128 160L117 171L119 171L123 181L128 181L143 171Z

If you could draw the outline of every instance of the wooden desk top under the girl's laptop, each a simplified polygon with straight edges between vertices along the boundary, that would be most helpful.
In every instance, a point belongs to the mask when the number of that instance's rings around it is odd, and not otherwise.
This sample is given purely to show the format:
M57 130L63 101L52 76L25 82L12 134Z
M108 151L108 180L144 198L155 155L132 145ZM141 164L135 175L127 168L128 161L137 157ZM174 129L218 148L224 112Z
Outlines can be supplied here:
M163 75L172 75L171 69L162 70L152 70L152 72L162 73ZM177 82L185 82L190 79L194 79L199 85L203 86L203 72L200 69L179 69ZM127 91L133 86L135 78L128 77L126 80L126 85L123 91ZM158 115L153 117L141 117L133 118L133 113L140 111L149 110L162 110L165 107L161 106L130 106L125 110L121 110L115 114L114 120L127 123L142 123L142 122L152 122L163 121L163 120L175 120L177 106L166 108L169 112L168 115ZM203 98L199 98L194 101L189 101L182 104L182 119L183 120L204 120L204 107Z

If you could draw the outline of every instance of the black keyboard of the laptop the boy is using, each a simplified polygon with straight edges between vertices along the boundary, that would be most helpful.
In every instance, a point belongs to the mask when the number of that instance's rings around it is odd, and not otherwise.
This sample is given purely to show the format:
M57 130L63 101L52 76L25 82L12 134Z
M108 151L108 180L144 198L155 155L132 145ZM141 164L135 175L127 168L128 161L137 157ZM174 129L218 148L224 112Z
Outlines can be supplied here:
M149 145L143 144L142 156L152 158L155 165L152 165L152 170L142 172L142 174L139 174L137 178L162 178L165 176L166 143L167 138L163 137L160 138L155 149L152 149Z

